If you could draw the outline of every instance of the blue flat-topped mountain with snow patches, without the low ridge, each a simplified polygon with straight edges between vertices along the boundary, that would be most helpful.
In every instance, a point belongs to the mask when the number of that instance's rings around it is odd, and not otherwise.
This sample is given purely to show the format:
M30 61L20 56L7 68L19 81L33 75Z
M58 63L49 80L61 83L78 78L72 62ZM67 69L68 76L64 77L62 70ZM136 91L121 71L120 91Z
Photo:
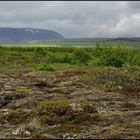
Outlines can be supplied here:
M60 40L64 37L51 30L33 28L0 28L0 43Z

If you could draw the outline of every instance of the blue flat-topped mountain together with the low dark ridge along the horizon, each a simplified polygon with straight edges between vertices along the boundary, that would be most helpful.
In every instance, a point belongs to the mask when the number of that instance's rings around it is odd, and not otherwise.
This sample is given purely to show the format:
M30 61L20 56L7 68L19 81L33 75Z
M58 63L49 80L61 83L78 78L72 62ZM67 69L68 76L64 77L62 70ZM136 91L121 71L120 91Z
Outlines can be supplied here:
M0 43L23 43L38 41L127 41L140 42L139 37L134 38L65 38L63 35L45 29L35 28L0 28Z

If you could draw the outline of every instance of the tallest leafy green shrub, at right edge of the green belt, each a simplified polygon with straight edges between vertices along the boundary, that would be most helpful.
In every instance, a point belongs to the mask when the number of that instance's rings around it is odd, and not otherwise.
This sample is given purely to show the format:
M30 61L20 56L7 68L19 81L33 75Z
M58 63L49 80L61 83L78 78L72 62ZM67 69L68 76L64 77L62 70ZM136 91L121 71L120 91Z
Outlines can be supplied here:
M100 66L122 67L129 64L134 58L134 50L123 48L120 45L117 47L104 47L97 45L94 50L94 55L97 57L96 64Z

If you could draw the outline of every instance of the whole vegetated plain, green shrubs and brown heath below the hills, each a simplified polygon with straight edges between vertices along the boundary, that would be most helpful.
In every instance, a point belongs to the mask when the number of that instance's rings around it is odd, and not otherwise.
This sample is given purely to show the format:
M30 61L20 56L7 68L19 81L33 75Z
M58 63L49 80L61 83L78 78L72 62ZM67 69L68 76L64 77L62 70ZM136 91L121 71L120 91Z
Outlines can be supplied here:
M0 47L0 138L140 139L140 50L88 43Z

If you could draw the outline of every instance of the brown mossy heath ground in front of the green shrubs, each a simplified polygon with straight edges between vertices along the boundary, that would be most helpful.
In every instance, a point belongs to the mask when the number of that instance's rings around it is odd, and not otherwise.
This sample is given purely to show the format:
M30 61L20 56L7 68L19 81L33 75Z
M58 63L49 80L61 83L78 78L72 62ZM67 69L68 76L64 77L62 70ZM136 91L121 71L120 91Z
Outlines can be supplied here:
M125 93L130 85L104 90L94 73L1 72L0 138L140 139L140 77Z

